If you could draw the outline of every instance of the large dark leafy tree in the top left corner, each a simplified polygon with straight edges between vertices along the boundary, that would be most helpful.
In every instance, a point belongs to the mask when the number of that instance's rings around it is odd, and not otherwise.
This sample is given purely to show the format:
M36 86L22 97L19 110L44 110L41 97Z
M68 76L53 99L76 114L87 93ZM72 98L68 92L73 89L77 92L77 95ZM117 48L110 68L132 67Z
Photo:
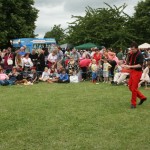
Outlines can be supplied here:
M38 10L34 0L1 0L0 43L13 38L34 37Z

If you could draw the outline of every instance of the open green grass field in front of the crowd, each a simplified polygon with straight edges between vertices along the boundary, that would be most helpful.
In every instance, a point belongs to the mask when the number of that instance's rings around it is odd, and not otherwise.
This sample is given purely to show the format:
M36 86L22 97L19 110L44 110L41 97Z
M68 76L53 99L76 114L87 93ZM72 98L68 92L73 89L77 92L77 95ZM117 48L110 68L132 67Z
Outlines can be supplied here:
M0 150L149 150L150 102L132 110L130 96L90 82L0 87Z

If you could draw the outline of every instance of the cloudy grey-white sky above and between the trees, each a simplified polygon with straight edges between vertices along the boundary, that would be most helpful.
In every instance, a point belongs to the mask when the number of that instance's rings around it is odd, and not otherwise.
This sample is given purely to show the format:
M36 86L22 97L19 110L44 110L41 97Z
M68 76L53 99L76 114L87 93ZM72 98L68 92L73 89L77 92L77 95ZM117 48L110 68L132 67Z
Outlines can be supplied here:
M124 12L132 16L138 1L140 0L35 0L34 7L39 10L35 34L42 38L54 25L59 24L66 29L68 23L73 21L72 15L84 16L87 6L104 8L104 2L117 7L125 3L127 7Z

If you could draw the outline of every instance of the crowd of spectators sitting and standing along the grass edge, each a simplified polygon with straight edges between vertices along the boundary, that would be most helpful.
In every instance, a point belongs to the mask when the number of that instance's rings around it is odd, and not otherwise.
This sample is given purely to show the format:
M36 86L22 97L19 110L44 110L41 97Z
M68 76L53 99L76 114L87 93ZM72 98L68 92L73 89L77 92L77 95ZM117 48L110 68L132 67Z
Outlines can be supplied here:
M0 85L33 85L39 81L47 83L69 83L91 80L92 83L127 84L130 70L123 67L128 63L131 50L117 54L112 49L94 47L90 50L67 49L55 47L32 50L27 53L26 46L12 52L11 47L0 51ZM145 50L145 62L150 58L150 49ZM146 66L147 65L147 66ZM144 63L142 83L150 82L149 62Z

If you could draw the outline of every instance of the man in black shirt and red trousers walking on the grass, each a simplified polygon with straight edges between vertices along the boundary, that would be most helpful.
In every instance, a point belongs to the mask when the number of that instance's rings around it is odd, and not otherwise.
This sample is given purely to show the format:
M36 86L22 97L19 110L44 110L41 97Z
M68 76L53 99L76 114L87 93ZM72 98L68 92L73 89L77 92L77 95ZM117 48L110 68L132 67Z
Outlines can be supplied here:
M143 55L138 50L137 43L133 42L131 44L132 54L129 56L128 65L123 65L130 70L129 78L129 89L132 92L131 97L131 108L136 108L136 99L140 99L138 105L143 104L146 101L146 97L138 90L138 83L142 75L142 65L143 65Z

